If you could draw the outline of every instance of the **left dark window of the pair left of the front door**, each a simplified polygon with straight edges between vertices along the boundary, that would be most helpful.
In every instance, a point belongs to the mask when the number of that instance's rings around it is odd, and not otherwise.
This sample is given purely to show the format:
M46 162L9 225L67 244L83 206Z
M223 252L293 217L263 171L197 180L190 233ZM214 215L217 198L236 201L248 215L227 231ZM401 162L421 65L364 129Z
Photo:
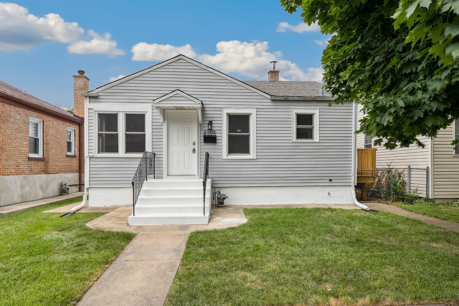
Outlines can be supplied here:
M118 114L98 114L99 153L118 153Z

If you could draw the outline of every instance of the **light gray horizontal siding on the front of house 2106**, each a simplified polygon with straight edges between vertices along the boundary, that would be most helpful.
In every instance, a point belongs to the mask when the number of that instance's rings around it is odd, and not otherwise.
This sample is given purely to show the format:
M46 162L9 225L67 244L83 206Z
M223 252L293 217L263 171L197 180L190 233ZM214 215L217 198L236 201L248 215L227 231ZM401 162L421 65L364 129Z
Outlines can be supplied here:
M152 104L152 100L175 89L203 102L201 175L204 155L208 151L209 173L215 186L351 184L352 103L329 107L327 101L270 100L185 60L174 61L102 90L98 98L90 97L90 102ZM292 142L294 107L319 108L319 142ZM222 158L223 108L256 108L256 159ZM156 110L152 114L152 151L157 154L157 178L160 178L163 124ZM217 133L216 144L203 143L209 120L213 121ZM138 160L91 157L90 186L129 186Z

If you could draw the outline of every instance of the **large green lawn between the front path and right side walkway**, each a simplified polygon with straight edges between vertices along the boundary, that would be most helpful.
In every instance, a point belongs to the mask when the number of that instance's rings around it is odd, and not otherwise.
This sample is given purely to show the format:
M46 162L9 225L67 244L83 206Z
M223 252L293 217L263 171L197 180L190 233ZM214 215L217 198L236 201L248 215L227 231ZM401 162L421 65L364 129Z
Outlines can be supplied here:
M191 233L166 306L457 305L459 233L386 212L244 212Z

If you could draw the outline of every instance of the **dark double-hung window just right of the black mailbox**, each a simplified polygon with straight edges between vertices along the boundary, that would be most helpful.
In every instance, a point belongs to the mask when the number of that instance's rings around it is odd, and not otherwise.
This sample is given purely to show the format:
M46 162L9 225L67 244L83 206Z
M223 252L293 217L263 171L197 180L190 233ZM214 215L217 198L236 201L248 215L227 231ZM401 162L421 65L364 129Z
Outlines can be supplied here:
M250 115L228 115L228 154L250 154Z

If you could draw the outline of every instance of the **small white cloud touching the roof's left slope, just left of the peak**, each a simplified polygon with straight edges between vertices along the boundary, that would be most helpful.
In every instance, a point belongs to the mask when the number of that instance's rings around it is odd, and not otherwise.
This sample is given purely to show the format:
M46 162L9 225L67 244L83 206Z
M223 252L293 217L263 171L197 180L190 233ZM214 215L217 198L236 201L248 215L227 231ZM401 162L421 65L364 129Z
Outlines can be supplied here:
M190 45L173 46L138 43L132 47L131 52L133 61L163 61L168 58L183 54L189 57L195 57L196 53Z

